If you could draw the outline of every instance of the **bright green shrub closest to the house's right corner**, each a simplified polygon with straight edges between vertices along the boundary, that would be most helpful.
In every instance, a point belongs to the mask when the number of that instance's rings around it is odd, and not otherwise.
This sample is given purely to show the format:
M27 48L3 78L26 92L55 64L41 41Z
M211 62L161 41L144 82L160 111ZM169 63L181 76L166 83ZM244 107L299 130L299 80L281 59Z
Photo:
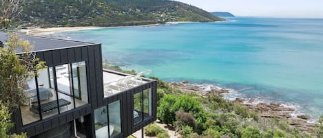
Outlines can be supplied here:
M165 124L173 124L175 121L175 111L172 106L176 102L174 95L165 95L159 102L157 118Z

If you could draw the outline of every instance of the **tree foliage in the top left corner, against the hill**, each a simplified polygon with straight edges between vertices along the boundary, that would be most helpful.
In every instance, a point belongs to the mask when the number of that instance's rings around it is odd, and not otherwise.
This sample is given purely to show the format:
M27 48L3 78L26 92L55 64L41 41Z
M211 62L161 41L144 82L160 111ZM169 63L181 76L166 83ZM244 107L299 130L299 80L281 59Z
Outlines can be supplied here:
M20 0L1 0L0 23L2 27L8 27L14 17L22 11Z

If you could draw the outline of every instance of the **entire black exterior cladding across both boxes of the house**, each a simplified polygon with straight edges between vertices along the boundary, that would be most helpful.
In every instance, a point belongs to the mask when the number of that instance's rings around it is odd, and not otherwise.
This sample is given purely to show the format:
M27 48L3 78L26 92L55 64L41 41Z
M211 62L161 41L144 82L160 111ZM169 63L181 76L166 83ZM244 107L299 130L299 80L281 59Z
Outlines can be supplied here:
M17 109L17 111L12 115L12 122L14 122L15 125L10 131L11 133L25 132L28 134L28 137L33 137L68 122L72 122L74 119L78 119L83 116L85 126L87 126L87 137L95 137L94 110L101 106L106 106L116 100L121 100L122 133L118 137L127 137L136 132L136 130L143 128L143 126L156 120L157 82L154 80L150 80L143 85L128 89L127 91L123 91L117 95L113 95L112 97L104 98L101 44L40 51L37 52L37 57L45 61L48 67L85 61L87 68L87 96L89 98L89 104L85 104L84 106L80 106L74 110L66 111L59 115L54 115L25 126L22 125L20 109ZM149 88L152 88L152 117L145 119L140 124L134 126L134 94Z

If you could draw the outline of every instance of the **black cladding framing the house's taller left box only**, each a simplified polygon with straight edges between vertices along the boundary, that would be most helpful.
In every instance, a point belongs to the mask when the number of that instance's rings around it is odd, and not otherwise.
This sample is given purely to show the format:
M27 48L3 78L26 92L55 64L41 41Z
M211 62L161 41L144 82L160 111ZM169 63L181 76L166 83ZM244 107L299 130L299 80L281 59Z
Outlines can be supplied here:
M101 45L88 45L84 47L73 47L68 49L56 49L52 51L37 52L36 56L46 62L48 67L63 65L71 62L86 62L87 67L87 89L89 104L75 108L74 110L54 115L52 117L22 126L21 113L19 110L12 115L15 122L11 132L26 132L28 137L43 133L47 130L71 122L81 116L92 113L92 108L103 102L103 77ZM85 120L87 121L87 120ZM92 125L92 124L88 124ZM90 126L92 127L92 126Z

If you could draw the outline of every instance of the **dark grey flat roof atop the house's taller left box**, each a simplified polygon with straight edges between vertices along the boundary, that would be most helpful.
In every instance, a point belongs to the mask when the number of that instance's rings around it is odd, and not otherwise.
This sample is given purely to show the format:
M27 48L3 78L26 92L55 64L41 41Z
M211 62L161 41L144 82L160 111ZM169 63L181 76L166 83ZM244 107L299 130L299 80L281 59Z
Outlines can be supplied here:
M80 41L70 41L58 38L47 38L41 36L30 36L26 34L18 34L19 38L27 40L30 44L34 45L33 51L49 51L54 49L65 49L71 47L82 47L86 45L94 45L95 43L87 43ZM5 32L0 32L0 41L6 42L8 39L8 34ZM21 52L17 49L17 53Z

